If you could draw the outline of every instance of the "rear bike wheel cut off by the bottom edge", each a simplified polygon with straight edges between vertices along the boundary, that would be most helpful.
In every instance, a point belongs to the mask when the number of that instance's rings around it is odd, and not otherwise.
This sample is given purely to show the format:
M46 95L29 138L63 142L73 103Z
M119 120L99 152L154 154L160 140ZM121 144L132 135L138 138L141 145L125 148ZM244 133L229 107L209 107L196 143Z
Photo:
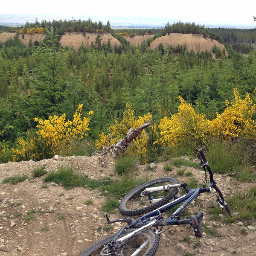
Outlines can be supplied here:
M123 237L136 229L126 230L119 237ZM79 256L154 256L159 245L159 236L152 230L144 229L123 241L121 246L111 248L108 243L116 236L113 234L84 250Z

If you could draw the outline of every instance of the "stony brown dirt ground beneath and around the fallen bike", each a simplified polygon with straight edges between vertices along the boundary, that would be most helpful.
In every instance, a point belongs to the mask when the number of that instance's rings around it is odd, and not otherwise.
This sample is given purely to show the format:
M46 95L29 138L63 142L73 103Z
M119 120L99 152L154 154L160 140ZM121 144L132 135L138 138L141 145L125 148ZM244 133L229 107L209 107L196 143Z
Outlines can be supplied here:
M104 231L106 220L102 212L102 204L106 197L100 196L97 189L88 190L81 187L64 189L55 183L44 183L43 177L32 178L31 173L38 166L45 166L46 170L56 170L58 166L74 163L81 174L87 174L92 179L109 177L116 179L114 160L105 159L103 167L97 157L57 157L56 159L40 162L6 163L0 164L0 182L6 177L15 175L29 175L29 179L12 185L0 183L0 254L3 256L76 256L91 244L116 233L122 224L116 224L113 229ZM167 176L163 166L149 170L147 166L139 166L135 177ZM102 172L103 170L103 172ZM204 172L186 167L186 172L192 172L200 181L204 179ZM189 177L178 176L177 169L168 172L180 182L188 181ZM235 178L215 175L215 180L224 196L241 192L252 183L240 183ZM88 199L93 205L86 205ZM186 253L211 256L255 256L256 255L256 223L247 227L243 223L225 223L225 214L220 220L212 220L208 211L217 203L211 194L203 194L196 199L195 204L189 206L189 212L204 213L203 223L218 232L218 236L204 233L202 238L195 238L190 226L173 226L161 235L157 256L184 256ZM35 219L26 223L28 212L34 210ZM236 214L236 212L232 212ZM64 217L64 218L63 218ZM111 219L122 217L116 209ZM241 234L241 229L246 230ZM189 237L189 241L183 241ZM192 255L193 255L192 254Z

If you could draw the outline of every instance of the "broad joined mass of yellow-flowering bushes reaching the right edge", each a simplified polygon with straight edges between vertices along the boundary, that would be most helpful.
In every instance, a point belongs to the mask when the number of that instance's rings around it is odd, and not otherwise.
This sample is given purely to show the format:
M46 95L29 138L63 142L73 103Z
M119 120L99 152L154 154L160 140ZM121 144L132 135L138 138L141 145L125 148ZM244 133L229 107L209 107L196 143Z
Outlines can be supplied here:
M160 138L157 143L175 150L186 140L192 141L195 147L202 146L209 136L222 140L239 136L255 138L256 104L250 99L249 93L241 99L234 89L234 96L234 101L226 102L227 108L223 113L217 113L214 120L208 120L204 114L195 113L192 105L180 97L178 113L160 120Z

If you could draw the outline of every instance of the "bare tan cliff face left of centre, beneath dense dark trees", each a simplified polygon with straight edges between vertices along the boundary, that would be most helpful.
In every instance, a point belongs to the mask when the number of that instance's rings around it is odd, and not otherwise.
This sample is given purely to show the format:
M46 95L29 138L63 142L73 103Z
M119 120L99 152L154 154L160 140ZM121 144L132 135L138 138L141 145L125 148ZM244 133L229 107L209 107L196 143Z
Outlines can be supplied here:
M121 44L111 33L86 33L85 35L83 33L64 33L59 42L61 46L73 47L78 52L82 43L84 43L85 47L90 47L92 42L95 44L98 35L100 35L101 44L107 44L108 40L110 40L112 48L114 45L119 46Z

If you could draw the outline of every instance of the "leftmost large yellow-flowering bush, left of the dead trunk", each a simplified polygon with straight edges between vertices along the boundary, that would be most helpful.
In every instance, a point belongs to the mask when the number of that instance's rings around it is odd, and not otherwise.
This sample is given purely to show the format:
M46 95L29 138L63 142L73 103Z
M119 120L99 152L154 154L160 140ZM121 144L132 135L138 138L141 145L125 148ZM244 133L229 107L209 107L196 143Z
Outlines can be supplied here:
M62 116L49 116L49 119L43 120L34 118L38 125L36 131L37 141L35 137L17 140L21 149L13 149L15 153L14 160L18 159L40 159L42 151L48 150L51 156L61 154L67 150L72 140L82 139L87 136L86 131L89 130L90 116L93 111L88 113L88 117L81 119L81 110L83 105L79 105L73 115L73 121L66 120L66 114Z

